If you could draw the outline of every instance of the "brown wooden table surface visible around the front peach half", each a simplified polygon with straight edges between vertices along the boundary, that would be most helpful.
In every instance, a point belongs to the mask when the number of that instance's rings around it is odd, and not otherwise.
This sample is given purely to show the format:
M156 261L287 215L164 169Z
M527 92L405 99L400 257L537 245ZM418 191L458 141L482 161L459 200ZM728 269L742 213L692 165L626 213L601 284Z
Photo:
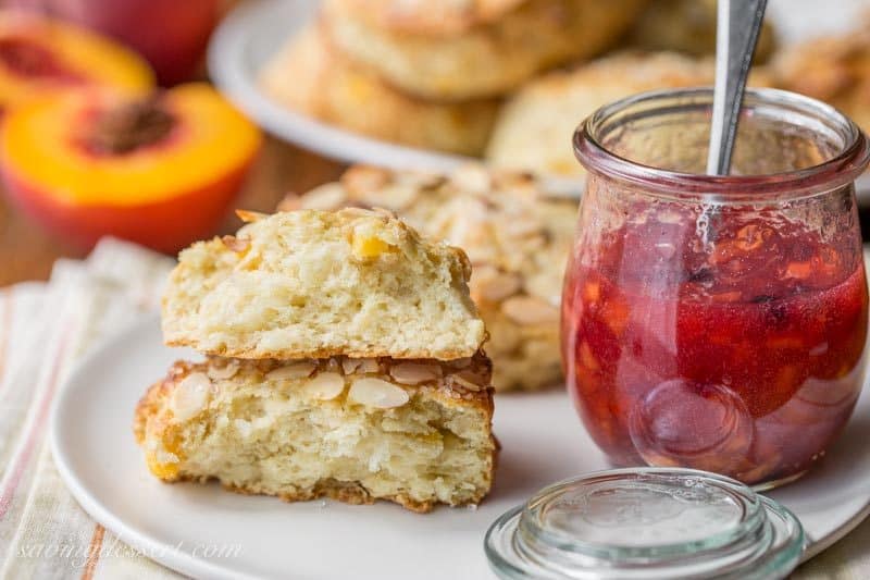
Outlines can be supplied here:
M266 138L239 194L237 207L272 211L287 192L304 192L341 174L344 165L291 145ZM240 222L227 215L221 233ZM0 287L25 280L46 280L58 258L83 258L76 249L42 230L12 207L0 186Z

